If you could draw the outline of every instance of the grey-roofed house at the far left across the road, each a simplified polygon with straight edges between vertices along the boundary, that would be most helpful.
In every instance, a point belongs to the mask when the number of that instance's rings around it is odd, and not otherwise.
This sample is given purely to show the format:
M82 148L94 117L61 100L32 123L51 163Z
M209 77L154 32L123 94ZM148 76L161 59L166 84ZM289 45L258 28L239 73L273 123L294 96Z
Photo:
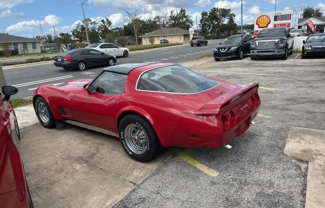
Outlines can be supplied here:
M9 55L41 53L41 40L0 33L0 53Z

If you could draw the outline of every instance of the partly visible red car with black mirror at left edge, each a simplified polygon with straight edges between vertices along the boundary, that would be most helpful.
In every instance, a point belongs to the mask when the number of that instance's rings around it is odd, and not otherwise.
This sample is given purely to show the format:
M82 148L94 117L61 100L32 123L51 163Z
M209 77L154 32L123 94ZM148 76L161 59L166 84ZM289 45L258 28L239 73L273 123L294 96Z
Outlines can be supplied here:
M18 89L11 86L0 90L0 206L4 208L34 207L19 153L17 118L9 101L17 92Z

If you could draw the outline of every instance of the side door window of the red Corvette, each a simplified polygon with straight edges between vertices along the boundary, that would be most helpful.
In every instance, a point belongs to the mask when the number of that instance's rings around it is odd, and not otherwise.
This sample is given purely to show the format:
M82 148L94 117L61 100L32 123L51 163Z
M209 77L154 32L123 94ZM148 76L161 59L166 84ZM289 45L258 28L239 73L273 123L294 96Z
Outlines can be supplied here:
M127 75L104 71L92 84L98 93L117 95L124 92Z

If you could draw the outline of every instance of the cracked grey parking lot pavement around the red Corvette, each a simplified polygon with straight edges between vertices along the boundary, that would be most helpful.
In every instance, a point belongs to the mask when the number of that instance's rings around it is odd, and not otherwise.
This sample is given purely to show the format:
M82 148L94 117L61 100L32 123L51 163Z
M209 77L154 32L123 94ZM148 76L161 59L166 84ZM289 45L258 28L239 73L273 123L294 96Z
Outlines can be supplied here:
M237 84L259 82L255 124L231 141L232 149L185 148L179 150L183 156L169 149L139 163L112 137L37 124L21 132L36 207L304 207L307 163L283 149L291 127L325 129L325 59L294 54L287 60L203 58L183 65Z

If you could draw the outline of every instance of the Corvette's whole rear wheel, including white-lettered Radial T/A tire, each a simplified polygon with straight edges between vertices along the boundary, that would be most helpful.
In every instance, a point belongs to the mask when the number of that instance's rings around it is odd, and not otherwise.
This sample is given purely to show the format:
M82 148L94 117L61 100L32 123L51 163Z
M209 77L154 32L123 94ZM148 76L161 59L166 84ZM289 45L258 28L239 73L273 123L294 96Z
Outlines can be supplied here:
M121 120L119 137L127 155L140 162L150 161L162 149L150 123L136 114L126 115Z

